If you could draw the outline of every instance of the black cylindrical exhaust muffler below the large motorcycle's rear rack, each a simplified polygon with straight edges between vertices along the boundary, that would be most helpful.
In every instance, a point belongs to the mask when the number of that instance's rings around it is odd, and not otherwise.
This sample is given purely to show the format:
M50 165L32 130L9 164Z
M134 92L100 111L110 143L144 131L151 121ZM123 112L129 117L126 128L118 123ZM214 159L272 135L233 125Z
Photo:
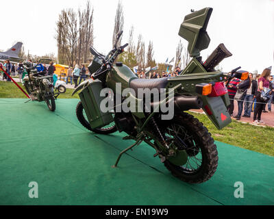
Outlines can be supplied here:
M174 101L174 111L182 112L191 109L201 109L203 107L203 101L199 96L175 96L171 101ZM153 106L157 107L160 102L151 103L151 112L153 112ZM168 103L166 103L167 107Z

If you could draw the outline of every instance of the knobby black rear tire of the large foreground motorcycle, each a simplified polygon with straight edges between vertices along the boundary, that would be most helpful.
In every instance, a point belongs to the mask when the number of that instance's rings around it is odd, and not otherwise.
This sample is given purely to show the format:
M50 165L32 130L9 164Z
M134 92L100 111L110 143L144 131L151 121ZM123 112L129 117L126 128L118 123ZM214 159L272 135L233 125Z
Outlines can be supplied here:
M173 126L175 127L176 125L184 127L186 136L181 135L181 138L182 140L187 139L185 142L192 145L190 146L190 149L187 150L188 159L193 159L193 157L199 155L201 156L201 165L197 165L197 169L195 170L195 168L188 168L188 163L184 166L176 166L166 159L164 166L171 171L173 176L182 181L188 183L203 183L208 181L208 179L214 175L214 172L216 172L219 159L211 133L208 132L208 129L204 127L203 123L200 123L197 118L186 113L175 116L173 119ZM199 159L197 159L197 161L198 160ZM197 161L195 162L198 163Z

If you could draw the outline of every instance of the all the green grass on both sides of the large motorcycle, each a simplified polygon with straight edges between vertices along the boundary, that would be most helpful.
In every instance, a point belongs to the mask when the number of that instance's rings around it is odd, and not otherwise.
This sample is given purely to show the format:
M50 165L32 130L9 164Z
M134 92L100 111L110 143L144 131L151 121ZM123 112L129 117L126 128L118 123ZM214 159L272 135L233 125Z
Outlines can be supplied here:
M21 85L21 83L18 83ZM21 86L23 87L23 86ZM25 90L25 88L23 88ZM64 94L58 98L79 99L78 94L71 96L73 89L66 89ZM0 98L26 98L25 94L19 90L12 82L0 81ZM244 149L264 153L274 156L274 129L271 127L257 127L249 124L232 121L222 130L216 129L206 115L189 112L198 118L212 133L214 140L239 146Z

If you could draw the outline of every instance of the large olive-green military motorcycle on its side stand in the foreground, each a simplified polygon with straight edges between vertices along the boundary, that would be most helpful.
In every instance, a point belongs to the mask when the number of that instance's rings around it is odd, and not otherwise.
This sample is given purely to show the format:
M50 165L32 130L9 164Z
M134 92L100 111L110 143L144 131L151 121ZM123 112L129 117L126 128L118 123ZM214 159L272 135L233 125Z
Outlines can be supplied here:
M214 70L221 60L232 55L223 44L214 50L206 62L201 61L199 53L210 42L206 27L211 13L212 8L204 8L184 18L179 36L188 40L192 60L177 77L138 79L130 68L121 62L114 63L127 44L121 47L115 44L106 56L90 47L90 52L95 56L88 66L92 79L82 82L73 92L75 94L81 90L81 101L76 107L77 118L84 127L95 133L124 131L128 135L124 140L135 140L120 153L113 167L117 166L123 153L145 142L155 149L154 157L159 157L164 166L182 181L202 183L214 175L218 165L214 140L208 129L186 111L203 109L212 123L222 129L232 121L227 112L229 97L223 81L242 75L236 72L238 68L232 70L230 75ZM117 34L116 42L121 34ZM106 88L109 90L102 92ZM127 94L123 93L126 89L129 89ZM135 95L139 90L145 90L142 94L153 90L153 95L156 90L164 98L147 103L143 96ZM151 94L147 96L151 97ZM102 110L102 103L108 103L106 105L110 110ZM164 107L169 103L173 103L173 116L163 119L167 116ZM135 105L140 110L123 111L121 105Z

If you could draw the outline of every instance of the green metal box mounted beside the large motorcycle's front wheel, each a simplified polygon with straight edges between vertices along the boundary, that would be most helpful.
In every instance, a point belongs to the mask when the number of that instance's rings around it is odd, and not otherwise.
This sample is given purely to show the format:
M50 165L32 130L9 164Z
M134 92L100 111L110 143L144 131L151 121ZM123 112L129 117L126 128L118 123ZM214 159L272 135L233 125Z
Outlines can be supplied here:
M100 110L100 103L105 99L104 96L100 96L102 89L101 81L94 81L84 88L82 92L79 92L79 97L92 129L104 127L113 121L113 116L110 112L104 113Z

